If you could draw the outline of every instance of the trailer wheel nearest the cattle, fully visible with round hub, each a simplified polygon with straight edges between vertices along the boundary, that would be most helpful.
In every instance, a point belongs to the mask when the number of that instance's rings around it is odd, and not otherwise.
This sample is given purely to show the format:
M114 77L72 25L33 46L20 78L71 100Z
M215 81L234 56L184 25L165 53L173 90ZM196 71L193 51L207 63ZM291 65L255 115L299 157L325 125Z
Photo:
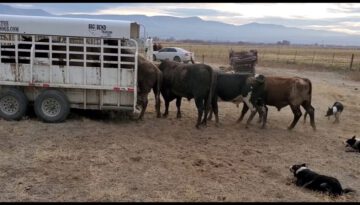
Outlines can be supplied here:
M62 122L70 113L67 97L58 90L45 90L34 103L35 114L44 122Z

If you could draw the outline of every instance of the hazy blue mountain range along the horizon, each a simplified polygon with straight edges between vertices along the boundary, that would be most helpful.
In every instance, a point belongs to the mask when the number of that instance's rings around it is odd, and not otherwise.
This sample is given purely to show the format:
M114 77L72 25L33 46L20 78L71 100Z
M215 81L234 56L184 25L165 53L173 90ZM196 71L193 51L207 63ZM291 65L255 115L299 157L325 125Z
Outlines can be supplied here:
M145 15L53 15L41 9L20 9L0 4L0 15L31 15L72 18L97 18L129 20L142 24L148 36L161 39L204 40L221 42L276 43L287 40L292 44L331 44L360 46L360 35L340 32L300 29L276 24L249 23L232 25L216 21L205 21L199 17L179 18L171 16ZM140 35L144 35L141 26Z

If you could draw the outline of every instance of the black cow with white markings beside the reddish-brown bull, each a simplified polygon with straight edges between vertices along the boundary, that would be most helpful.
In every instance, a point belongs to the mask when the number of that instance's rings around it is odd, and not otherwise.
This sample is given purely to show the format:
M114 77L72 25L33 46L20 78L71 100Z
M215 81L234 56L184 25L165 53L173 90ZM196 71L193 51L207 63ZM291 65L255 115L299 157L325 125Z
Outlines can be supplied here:
M264 112L263 100L255 98L252 95L253 86L262 85L263 81L256 82L257 79L251 74L239 73L217 73L216 89L212 102L212 112L215 114L216 123L219 122L217 100L220 98L222 101L233 102L239 104L244 102L251 110L257 110L261 116L266 114ZM211 112L209 119L211 119ZM250 121L247 122L247 125Z

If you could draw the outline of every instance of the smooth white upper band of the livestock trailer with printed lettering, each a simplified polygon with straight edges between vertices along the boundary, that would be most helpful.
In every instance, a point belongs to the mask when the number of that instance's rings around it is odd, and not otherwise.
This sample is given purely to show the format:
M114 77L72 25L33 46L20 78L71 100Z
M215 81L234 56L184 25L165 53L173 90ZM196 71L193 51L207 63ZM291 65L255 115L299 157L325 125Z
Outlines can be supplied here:
M0 32L56 36L138 38L139 24L86 18L1 15Z

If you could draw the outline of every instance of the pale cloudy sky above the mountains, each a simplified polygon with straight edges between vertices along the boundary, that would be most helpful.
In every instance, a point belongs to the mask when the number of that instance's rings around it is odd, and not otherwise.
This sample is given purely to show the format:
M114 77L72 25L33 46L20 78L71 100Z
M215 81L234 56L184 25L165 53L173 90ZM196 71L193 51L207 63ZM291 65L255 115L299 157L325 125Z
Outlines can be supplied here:
M7 3L51 14L199 17L242 25L251 22L360 34L360 3Z

